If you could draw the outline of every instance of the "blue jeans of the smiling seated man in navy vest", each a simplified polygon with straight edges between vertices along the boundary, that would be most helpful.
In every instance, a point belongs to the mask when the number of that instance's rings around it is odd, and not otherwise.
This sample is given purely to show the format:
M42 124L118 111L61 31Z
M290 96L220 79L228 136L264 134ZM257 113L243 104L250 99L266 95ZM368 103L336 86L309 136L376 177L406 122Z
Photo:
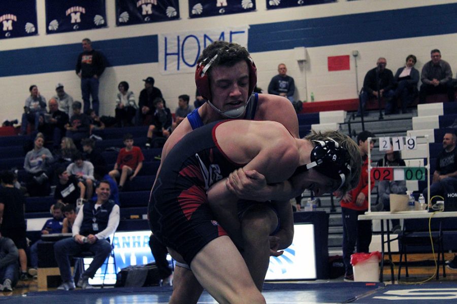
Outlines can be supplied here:
M94 254L89 268L81 275L93 278L97 270L102 267L103 262L110 255L111 244L108 240L97 240L93 244L79 244L73 238L63 239L54 244L54 255L60 270L62 282L73 281L70 270L70 256L83 251L90 251Z

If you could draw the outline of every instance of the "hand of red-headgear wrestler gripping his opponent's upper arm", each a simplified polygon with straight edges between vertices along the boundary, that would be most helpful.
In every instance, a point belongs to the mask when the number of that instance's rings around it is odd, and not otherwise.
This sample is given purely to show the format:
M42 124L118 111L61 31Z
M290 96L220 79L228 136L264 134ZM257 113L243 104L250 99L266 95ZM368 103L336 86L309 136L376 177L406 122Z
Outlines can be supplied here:
M228 175L226 186L240 199L266 201L262 198L262 190L267 186L267 180L255 170L244 171L239 168L233 171Z

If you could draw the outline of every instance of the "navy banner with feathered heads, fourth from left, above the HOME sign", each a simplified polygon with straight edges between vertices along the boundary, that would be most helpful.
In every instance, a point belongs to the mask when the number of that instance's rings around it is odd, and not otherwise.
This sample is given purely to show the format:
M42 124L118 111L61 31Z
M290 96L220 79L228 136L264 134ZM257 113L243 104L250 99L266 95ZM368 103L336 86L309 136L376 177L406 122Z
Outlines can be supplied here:
M189 0L189 17L201 18L255 11L255 0Z

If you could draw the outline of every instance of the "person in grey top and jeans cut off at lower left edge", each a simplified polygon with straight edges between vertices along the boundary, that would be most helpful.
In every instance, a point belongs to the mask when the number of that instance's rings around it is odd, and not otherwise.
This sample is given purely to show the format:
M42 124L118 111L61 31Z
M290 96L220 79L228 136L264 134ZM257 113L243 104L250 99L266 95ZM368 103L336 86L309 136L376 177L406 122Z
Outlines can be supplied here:
M18 281L17 247L13 240L0 235L0 291L13 291Z

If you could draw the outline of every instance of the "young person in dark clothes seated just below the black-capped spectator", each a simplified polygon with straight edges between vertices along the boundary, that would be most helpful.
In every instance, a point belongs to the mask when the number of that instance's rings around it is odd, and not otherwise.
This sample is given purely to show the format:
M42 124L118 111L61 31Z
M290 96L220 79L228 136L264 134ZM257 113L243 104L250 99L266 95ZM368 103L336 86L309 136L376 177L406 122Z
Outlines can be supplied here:
M146 138L146 148L164 146L165 141L172 132L173 117L170 109L165 106L163 98L154 100L155 112L152 117L152 124L149 126ZM153 138L156 142L153 144ZM162 139L160 141L160 139Z

